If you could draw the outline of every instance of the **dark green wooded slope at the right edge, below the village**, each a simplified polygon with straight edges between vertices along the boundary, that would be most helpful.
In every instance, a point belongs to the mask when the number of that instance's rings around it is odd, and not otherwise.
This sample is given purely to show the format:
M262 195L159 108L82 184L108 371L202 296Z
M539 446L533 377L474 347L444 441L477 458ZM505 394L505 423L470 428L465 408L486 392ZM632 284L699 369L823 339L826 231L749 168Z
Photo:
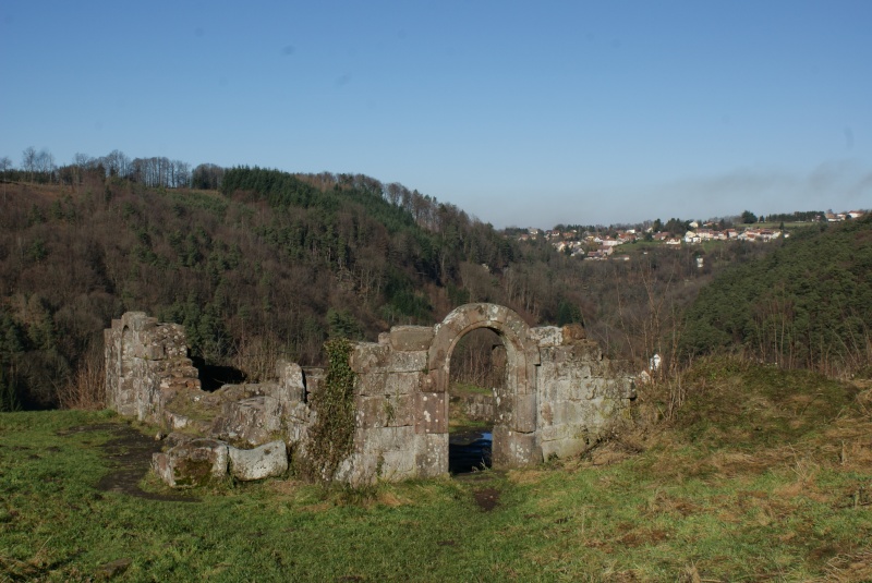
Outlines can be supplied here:
M872 356L872 217L798 231L704 289L686 317L686 357L719 350L845 375Z

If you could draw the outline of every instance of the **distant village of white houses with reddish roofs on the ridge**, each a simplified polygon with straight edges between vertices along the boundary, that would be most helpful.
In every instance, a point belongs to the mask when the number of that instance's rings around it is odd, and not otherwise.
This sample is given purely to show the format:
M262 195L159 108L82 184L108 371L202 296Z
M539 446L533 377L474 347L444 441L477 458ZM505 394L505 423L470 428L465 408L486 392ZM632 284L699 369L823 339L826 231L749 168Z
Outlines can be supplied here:
M865 215L863 210L850 210L848 212L822 212L815 215L808 223L815 222L840 222L849 219L858 219ZM671 223L673 221L670 221ZM758 224L763 222L762 218ZM669 223L667 223L668 226ZM626 254L615 255L615 248L627 243L645 241L655 244L663 244L673 248L680 248L682 245L699 245L710 241L748 241L751 243L768 243L779 238L788 238L784 229L760 227L754 223L726 227L724 221L689 221L686 223L687 230L683 232L667 231L657 229L663 227L657 220L649 227L640 228L597 228L597 229L552 229L542 230L530 228L526 232L518 234L520 241L537 241L544 239L561 253L585 260L619 259L629 260Z

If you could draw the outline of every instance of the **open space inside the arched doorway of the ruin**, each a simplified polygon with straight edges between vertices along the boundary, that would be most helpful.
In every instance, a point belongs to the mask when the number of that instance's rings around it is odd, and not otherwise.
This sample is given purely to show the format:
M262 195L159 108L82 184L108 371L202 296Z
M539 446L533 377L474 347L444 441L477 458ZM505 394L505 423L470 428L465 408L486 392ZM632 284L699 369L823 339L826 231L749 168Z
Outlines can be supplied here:
M491 467L497 396L506 390L506 348L488 328L464 335L450 356L448 471Z

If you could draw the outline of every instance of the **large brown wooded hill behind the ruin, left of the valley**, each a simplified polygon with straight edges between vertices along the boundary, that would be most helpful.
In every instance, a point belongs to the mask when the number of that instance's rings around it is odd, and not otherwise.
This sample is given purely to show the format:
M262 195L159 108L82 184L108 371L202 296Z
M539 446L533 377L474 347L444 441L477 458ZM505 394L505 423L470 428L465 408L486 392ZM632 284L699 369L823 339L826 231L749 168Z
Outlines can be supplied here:
M101 331L130 309L184 324L194 356L257 378L279 355L319 362L329 336L374 340L469 301L548 321L564 297L491 226L367 177L237 168L220 192L102 172L38 182L4 182L0 198L5 408L99 382Z

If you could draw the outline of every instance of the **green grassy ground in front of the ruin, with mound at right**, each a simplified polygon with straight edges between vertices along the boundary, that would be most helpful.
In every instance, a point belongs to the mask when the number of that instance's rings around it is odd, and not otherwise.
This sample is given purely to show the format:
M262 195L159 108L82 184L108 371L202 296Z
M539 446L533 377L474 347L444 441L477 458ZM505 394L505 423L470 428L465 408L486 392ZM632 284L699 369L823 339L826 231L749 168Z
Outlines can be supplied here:
M148 427L2 414L0 581L872 581L865 385L711 361L640 392L584 459L189 500L107 481Z

